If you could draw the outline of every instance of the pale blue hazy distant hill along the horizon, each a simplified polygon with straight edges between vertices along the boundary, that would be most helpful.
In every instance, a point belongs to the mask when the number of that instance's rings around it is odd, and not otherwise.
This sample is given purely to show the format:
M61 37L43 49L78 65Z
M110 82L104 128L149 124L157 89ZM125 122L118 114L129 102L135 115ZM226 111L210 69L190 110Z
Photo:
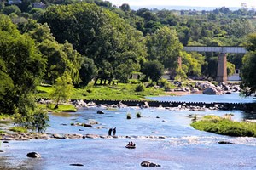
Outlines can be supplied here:
M189 7L189 6L131 6L132 9L137 10L139 8L148 8L148 9L168 9L168 10L206 10L206 11L212 11L216 8L221 8L221 7ZM240 7L227 7L230 8L230 10L238 10Z

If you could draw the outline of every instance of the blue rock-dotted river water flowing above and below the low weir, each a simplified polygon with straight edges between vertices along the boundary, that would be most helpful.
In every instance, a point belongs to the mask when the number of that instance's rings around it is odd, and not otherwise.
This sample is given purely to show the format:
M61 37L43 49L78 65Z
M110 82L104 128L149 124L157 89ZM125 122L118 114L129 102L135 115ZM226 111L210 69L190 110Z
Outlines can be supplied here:
M230 96L218 95L214 99L230 101ZM206 101L209 96L181 98ZM172 100L173 97L155 99ZM236 94L231 99L232 102L242 100ZM253 99L246 100L253 102ZM99 115L96 114L98 110L91 107L76 113L49 114L47 133L107 135L109 128L116 127L119 138L10 141L1 145L1 150L5 152L0 153L0 169L144 169L140 166L142 161L160 164L161 167L154 167L156 169L256 169L255 138L228 137L201 132L189 126L195 114L201 117L232 113L236 121L255 119L255 115L243 111L174 111L163 108L102 109L105 114ZM137 112L141 113L141 118L136 117ZM131 120L126 119L127 113L131 113ZM91 120L99 123L93 127L70 126L73 122ZM135 150L125 148L131 140L137 144ZM235 144L218 144L221 140ZM26 154L31 151L37 151L42 158L27 158ZM84 167L70 166L72 163L83 164Z

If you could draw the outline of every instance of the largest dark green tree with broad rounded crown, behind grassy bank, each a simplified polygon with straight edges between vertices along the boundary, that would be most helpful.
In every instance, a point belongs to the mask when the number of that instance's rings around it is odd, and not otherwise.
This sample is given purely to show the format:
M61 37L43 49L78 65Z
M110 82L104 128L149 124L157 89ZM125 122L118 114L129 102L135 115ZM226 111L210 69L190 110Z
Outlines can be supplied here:
M58 42L67 40L80 54L94 60L96 80L100 79L101 84L113 79L127 81L146 56L143 34L95 4L53 6L47 8L40 21L49 24Z

